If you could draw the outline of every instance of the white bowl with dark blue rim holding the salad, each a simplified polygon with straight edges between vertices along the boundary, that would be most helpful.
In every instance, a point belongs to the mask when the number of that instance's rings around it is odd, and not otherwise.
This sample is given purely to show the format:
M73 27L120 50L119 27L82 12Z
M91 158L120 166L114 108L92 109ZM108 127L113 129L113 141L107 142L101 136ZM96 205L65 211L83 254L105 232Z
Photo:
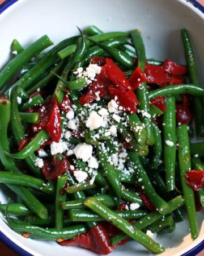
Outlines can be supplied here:
M12 1L7 1L12 2ZM103 31L128 31L139 28L146 46L146 55L159 60L170 58L185 63L180 30L187 28L195 46L198 71L204 82L204 14L185 0L21 0L0 15L0 66L8 61L10 44L16 38L27 46L40 36L48 34L54 44L78 34L76 26L87 28L95 24ZM9 3L10 4L10 3ZM0 201L6 203L4 191ZM199 237L192 241L188 221L176 226L175 232L158 236L156 241L168 249L161 255L195 255L204 244L203 212L198 213ZM76 247L62 247L56 242L25 239L8 228L2 220L1 240L20 255L96 255ZM136 242L118 246L111 253L121 255L151 255Z

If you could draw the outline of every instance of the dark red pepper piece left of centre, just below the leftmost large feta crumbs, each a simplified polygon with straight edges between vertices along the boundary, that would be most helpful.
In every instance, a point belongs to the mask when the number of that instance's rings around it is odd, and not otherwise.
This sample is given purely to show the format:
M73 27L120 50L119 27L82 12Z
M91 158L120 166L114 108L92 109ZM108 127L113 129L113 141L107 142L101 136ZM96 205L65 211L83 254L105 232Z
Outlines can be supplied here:
M53 160L44 160L44 166L42 166L41 172L46 180L57 180L57 177L69 170L69 168L70 163L66 158L58 161L56 156L53 156Z

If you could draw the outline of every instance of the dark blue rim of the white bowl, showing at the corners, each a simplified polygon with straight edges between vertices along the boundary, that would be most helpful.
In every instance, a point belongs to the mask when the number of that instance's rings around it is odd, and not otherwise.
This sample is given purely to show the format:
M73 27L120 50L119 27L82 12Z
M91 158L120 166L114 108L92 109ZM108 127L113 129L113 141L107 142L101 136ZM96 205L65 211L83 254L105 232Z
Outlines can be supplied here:
M5 11L6 9L8 9L8 7L12 6L15 2L18 2L18 0L5 0L0 5L0 14L3 13L3 11ZM199 10L201 10L204 13L204 6L202 6L198 1L189 0L188 2L191 2L193 6L197 7ZM22 249L22 247L18 246L16 243L10 240L10 238L8 238L1 231L0 231L0 241L4 243L6 246L8 246L16 254L19 254L21 256L33 256L32 254L28 253L28 251L25 251L24 249ZM198 253L200 253L203 250L203 248L204 248L204 240L198 243L198 245L193 247L191 250L182 254L181 256L196 256Z

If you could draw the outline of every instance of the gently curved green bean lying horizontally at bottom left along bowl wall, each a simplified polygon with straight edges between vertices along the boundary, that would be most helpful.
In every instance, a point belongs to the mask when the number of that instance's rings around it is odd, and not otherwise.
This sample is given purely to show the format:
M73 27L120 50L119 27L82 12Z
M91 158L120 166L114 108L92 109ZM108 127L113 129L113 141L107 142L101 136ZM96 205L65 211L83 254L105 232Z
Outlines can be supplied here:
M10 217L7 217L6 220L11 229L23 234L25 237L35 240L67 240L87 230L86 225L83 224L67 226L66 228L58 230L55 228L41 228Z

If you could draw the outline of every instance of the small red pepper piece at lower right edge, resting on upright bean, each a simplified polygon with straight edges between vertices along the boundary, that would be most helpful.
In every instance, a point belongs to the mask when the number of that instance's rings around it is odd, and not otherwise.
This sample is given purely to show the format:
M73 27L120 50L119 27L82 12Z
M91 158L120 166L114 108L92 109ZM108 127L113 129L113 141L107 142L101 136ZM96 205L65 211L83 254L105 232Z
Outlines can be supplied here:
M187 171L185 178L187 185L194 191L199 191L204 186L204 171Z

